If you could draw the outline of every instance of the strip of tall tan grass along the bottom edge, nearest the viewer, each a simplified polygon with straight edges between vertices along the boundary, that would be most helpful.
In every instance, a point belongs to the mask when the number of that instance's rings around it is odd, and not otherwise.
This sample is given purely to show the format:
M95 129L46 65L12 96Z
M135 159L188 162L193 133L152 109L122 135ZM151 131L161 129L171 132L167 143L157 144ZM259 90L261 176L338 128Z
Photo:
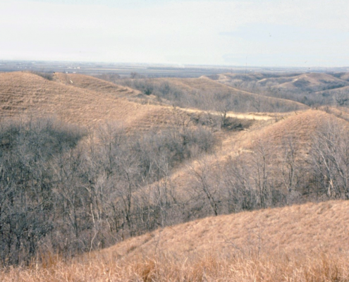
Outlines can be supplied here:
M277 255L205 254L112 257L100 252L72 262L47 257L42 264L0 272L0 281L349 281L349 255L299 251Z

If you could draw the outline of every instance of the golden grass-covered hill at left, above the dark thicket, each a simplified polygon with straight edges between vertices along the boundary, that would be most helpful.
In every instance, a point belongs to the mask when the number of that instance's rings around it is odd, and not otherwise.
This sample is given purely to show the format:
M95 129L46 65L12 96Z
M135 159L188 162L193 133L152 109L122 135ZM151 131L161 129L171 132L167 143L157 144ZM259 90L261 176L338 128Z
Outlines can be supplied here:
M0 116L55 116L83 126L117 121L125 128L135 130L171 121L172 109L130 102L117 97L114 92L127 90L128 94L135 94L137 90L85 78L84 75L76 78L78 87L45 80L32 73L1 73Z

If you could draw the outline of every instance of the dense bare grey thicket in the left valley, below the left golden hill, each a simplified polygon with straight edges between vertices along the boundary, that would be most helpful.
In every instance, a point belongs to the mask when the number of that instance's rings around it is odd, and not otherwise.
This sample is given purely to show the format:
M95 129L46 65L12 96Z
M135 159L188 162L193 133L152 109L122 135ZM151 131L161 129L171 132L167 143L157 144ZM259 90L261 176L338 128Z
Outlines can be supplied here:
M1 264L45 249L69 256L165 225L167 188L142 188L214 142L202 127L130 136L110 124L87 133L51 120L1 123Z

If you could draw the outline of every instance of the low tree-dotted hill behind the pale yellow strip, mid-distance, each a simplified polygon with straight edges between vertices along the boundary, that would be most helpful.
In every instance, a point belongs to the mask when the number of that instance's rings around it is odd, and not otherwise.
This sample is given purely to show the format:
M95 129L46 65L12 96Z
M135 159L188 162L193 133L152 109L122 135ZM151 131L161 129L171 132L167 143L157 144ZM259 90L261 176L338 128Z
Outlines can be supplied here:
M307 109L298 102L261 96L206 77L120 80L123 85L155 95L161 102L182 108L254 112L287 112Z

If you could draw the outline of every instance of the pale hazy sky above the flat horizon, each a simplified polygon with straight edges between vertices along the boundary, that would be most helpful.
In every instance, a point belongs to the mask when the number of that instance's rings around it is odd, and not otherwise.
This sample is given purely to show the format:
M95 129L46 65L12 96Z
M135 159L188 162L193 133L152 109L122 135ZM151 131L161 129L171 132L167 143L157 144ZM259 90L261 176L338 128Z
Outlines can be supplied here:
M349 66L349 1L0 0L0 59Z

